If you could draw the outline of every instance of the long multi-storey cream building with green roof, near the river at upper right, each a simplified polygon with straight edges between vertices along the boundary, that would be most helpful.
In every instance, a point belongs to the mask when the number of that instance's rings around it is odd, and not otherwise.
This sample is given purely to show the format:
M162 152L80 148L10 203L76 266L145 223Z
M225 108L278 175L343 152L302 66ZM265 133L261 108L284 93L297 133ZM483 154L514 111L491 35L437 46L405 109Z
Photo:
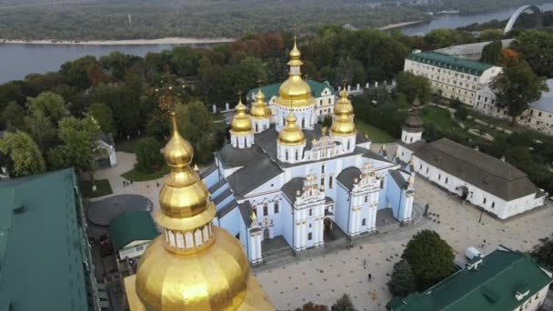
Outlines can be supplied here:
M407 55L404 71L426 76L432 89L447 98L474 105L478 89L489 84L502 68L436 52Z

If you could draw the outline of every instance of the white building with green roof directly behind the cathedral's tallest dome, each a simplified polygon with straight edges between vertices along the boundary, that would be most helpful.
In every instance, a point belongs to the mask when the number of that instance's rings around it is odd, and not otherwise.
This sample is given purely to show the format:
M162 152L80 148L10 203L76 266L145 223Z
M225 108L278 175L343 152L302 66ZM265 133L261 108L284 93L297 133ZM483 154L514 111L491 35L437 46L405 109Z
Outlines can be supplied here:
M327 82L317 82L315 80L306 79L307 85L311 87L311 95L315 98L315 114L317 120L322 120L326 116L332 116L334 113L334 100L336 92L334 88ZM282 83L261 86L261 92L265 95L266 103L271 108L271 123L276 123L277 104L275 99L278 97L278 89ZM258 88L253 88L247 92L248 102L256 100Z

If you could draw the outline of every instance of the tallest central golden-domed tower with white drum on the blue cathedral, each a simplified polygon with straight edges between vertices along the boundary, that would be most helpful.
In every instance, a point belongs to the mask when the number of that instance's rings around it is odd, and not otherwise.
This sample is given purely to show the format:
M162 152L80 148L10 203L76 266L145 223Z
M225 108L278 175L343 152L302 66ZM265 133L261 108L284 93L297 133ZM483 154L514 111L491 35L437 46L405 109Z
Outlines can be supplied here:
M297 126L301 129L313 129L316 123L315 98L311 94L311 87L301 77L300 60L301 53L297 49L296 37L294 48L290 51L290 72L285 82L278 89L278 96L275 99L277 104L277 131L280 132L287 125L287 115L294 112ZM290 105L290 101L293 105Z

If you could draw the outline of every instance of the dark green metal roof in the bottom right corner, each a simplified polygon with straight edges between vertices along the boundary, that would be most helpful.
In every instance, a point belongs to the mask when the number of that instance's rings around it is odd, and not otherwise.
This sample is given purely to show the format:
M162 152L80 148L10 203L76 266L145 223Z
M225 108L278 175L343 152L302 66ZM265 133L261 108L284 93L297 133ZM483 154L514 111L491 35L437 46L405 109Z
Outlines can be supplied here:
M499 248L476 269L465 268L422 293L410 294L393 311L514 310L553 280L528 255ZM515 297L525 288L528 296Z

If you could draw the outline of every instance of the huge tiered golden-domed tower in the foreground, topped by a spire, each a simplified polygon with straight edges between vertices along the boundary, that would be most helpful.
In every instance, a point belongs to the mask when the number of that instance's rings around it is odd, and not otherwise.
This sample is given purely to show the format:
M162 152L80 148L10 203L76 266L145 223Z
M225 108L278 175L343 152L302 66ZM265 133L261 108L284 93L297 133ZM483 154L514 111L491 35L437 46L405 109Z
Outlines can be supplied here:
M142 256L136 295L127 287L136 310L275 310L252 276L236 237L212 225L216 206L190 168L192 146L173 134L164 156L171 173L159 194L156 223L162 233ZM246 127L245 127L246 129Z

